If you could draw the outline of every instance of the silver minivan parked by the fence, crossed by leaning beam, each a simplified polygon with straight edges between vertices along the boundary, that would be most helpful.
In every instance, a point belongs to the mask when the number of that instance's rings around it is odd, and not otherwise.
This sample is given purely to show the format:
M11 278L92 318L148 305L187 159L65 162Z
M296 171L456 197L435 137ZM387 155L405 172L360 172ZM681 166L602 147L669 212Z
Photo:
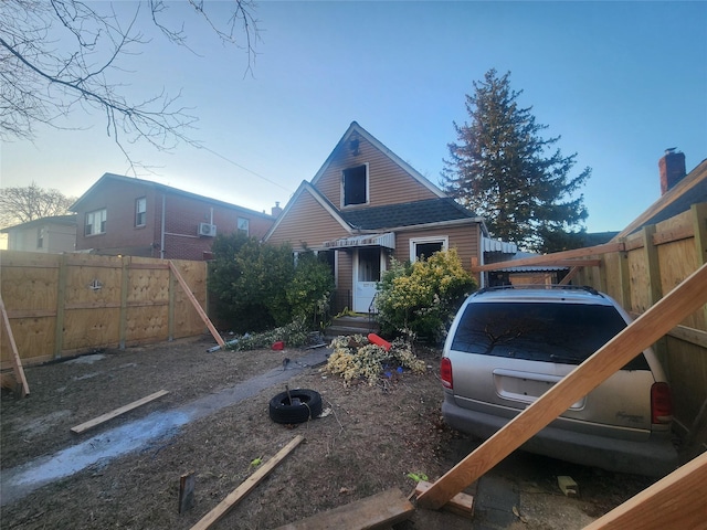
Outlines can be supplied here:
M571 372L630 322L591 288L482 289L460 308L441 362L445 422L481 438ZM573 403L523 449L612 471L677 467L671 390L652 350Z

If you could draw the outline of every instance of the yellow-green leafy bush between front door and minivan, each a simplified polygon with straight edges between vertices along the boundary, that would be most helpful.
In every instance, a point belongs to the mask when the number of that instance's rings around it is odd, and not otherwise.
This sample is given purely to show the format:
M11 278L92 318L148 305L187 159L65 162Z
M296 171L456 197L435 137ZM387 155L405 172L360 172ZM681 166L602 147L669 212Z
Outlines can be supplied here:
M455 248L414 263L393 259L376 299L381 332L439 342L464 298L475 289L476 280L464 271Z

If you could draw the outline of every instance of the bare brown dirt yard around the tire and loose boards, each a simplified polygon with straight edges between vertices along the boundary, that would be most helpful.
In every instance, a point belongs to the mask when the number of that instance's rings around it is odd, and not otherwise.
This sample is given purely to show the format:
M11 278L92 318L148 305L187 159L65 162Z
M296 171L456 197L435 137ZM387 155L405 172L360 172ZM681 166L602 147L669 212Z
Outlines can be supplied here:
M29 367L31 395L17 400L3 391L1 468L53 455L93 436L109 436L157 411L170 411L273 369L307 350L207 352L213 340L182 340L125 351L96 351L74 360ZM436 377L440 352L419 348L426 374L402 373L394 381L345 388L340 379L307 367L291 389L323 396L323 417L296 427L271 421L268 402L284 383L256 392L230 406L170 431L157 442L124 456L103 459L9 502L2 501L3 528L13 529L188 529L213 509L255 469L296 435L305 443L278 465L214 528L272 529L397 487L414 488L408 474L439 478L477 442L445 427L440 416L442 391ZM84 434L70 428L158 390L169 394ZM180 476L196 476L193 507L178 512ZM524 453L511 455L488 474L508 484L518 497L516 520L483 528L574 529L609 511L651 484L570 466ZM566 498L557 475L580 484L580 498ZM472 485L467 492L477 494ZM3 499L8 498L3 481ZM416 510L399 529L482 528L488 513L474 519ZM487 519L490 521L490 519Z

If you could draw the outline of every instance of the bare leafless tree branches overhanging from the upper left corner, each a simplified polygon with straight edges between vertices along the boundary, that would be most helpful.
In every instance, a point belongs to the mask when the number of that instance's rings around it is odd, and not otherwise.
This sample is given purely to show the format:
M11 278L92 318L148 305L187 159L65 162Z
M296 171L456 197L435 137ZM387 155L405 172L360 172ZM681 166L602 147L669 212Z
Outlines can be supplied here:
M251 0L231 2L225 23L214 22L201 0L189 0L189 6L221 41L246 51L247 73L257 40L254 6ZM92 6L80 0L0 2L0 139L33 139L36 124L64 128L60 118L81 108L104 113L106 134L133 168L128 144L147 141L158 150L173 149L179 142L198 147L189 136L198 118L193 109L179 104L181 92L172 96L162 89L135 102L125 96L126 85L114 81L126 76L129 56L149 44L139 31L146 20L170 42L193 53L183 21L173 28L162 0L144 0L134 11L120 4L119 13L113 3Z

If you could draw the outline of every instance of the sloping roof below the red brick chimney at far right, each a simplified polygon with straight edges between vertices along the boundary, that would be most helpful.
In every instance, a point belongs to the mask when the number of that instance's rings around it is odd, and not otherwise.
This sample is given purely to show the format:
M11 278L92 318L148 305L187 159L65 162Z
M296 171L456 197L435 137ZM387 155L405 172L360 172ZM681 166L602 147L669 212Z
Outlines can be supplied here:
M631 235L643 226L674 218L699 202L707 202L707 159L703 160L683 180L648 206L645 212L623 229L614 240Z

